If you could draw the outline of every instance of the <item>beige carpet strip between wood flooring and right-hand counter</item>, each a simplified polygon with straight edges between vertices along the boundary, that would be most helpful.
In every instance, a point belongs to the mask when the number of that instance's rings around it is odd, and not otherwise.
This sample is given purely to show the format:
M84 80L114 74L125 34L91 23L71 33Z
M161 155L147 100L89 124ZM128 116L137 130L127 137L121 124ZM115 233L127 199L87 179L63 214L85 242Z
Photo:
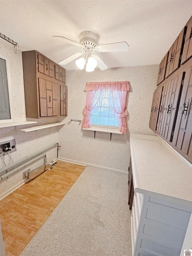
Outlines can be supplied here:
M86 167L22 256L132 256L128 175Z

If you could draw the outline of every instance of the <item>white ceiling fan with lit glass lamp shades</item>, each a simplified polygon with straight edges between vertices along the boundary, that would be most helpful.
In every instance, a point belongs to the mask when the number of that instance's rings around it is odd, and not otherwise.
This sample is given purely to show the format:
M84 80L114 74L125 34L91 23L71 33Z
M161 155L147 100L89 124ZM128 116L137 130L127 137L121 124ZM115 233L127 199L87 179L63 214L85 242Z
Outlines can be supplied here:
M67 63L71 62L72 60L78 58L83 53L85 53L85 56L76 60L75 63L80 69L83 69L86 64L86 71L88 72L94 71L96 66L98 66L98 68L100 68L101 70L106 70L108 68L107 65L102 61L102 59L98 55L92 54L94 51L126 52L129 49L129 45L127 44L127 42L98 45L99 37L97 34L91 31L81 32L79 34L79 43L62 36L53 36L53 38L67 42L69 44L74 44L83 50L82 53L75 53L67 59L64 59L63 61L59 62L60 65L66 65Z

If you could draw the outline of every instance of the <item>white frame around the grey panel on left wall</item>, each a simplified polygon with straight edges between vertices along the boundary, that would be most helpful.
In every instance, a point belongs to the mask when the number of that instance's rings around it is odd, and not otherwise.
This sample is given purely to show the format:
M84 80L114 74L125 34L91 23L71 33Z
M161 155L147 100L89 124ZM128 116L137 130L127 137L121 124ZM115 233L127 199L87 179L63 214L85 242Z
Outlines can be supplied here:
M8 94L9 94L9 108L11 119L1 119L0 123L12 123L15 122L14 108L13 108L13 94L12 94L12 84L11 84L11 71L10 71L10 60L7 56L0 54L0 58L6 61L6 71L7 71L7 84L8 84Z

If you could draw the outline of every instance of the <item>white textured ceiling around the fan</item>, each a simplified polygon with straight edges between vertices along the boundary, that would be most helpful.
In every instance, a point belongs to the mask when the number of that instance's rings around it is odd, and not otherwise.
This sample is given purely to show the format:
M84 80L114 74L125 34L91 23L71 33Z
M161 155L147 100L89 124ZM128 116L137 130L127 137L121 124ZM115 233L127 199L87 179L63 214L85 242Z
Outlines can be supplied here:
M52 36L78 42L79 33L90 30L99 35L99 44L126 41L130 46L126 53L98 53L108 67L153 65L191 15L191 0L7 0L0 1L0 32L20 50L38 50L58 63L79 47ZM75 60L64 68L76 69Z

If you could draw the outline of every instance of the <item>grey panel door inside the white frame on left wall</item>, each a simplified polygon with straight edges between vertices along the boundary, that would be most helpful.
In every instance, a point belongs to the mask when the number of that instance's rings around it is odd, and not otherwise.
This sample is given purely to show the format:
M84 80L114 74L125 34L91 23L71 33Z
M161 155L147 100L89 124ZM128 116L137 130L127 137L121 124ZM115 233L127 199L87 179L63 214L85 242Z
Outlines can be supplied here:
M0 58L0 119L10 119L6 60Z

